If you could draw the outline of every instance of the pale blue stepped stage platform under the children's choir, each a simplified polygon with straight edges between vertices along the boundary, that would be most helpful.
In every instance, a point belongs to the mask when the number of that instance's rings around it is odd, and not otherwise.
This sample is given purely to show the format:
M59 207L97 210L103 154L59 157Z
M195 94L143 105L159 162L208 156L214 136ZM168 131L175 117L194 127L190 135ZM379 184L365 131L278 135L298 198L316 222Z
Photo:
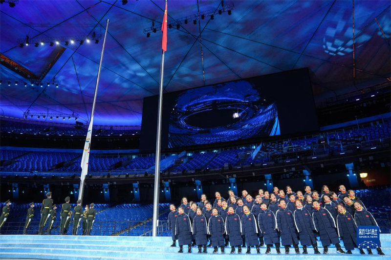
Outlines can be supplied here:
M207 254L197 254L197 247L192 247L192 253L187 253L187 246L184 246L183 254L177 253L179 247L170 247L171 237L114 237L114 236L58 236L58 235L2 235L0 236L0 258L1 259L52 259L52 260L125 260L125 259L205 259L227 260L257 258L256 249L251 249L251 255L246 255L245 249L242 254L229 254L230 247L225 248L225 254L212 254L213 248L208 247ZM381 235L382 250L385 256L379 256L376 250L373 255L360 255L358 249L353 255L341 255L336 253L335 247L329 248L328 255L314 255L312 247L308 248L308 255L296 255L293 248L289 255L277 255L275 248L272 254L267 255L268 260L295 259L295 260L366 260L375 258L391 259L391 234ZM323 253L321 243L319 249ZM341 243L343 245L343 243ZM236 249L238 251L238 249ZM265 256L266 247L261 248L261 256ZM302 248L300 248L302 252ZM364 250L367 253L367 250ZM282 253L284 250L282 249ZM258 255L259 257L260 255Z

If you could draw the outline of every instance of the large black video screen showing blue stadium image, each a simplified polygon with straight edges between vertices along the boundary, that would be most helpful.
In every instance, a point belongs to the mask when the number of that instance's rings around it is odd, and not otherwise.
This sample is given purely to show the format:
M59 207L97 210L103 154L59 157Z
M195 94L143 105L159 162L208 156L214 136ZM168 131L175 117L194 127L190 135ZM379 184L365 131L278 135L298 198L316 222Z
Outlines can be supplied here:
M140 150L156 141L157 97L144 99ZM162 148L318 130L307 69L197 87L163 96Z

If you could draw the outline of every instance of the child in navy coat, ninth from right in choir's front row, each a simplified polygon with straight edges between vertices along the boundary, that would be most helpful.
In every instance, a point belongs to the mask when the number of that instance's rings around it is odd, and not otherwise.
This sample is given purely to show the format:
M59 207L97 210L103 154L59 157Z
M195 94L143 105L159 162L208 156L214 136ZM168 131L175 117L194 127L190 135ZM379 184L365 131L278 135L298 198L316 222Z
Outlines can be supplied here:
M224 254L224 233L225 233L225 224L223 218L218 215L217 208L213 208L212 217L209 219L208 227L209 234L212 239L212 246L214 248L213 254L217 254L217 247L221 249L221 254Z

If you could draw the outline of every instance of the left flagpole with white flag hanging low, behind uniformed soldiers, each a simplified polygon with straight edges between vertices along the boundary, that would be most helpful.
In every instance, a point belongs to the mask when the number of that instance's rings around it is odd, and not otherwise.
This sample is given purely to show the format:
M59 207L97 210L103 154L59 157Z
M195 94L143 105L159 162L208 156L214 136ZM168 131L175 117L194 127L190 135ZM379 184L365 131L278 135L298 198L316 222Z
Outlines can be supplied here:
M98 68L98 76L96 78L96 84L95 84L95 93L94 93L94 101L92 103L92 111L91 111L91 118L88 125L88 131L87 131L87 137L86 137L86 143L84 144L84 150L83 150L83 157L81 162L82 167L82 174L80 176L80 188L79 188L79 197L78 200L83 200L84 195L84 180L86 179L86 175L88 173L88 158L89 158L89 149L91 147L91 136L92 136L92 124L94 120L94 111L95 111L95 103L96 103L96 96L98 94L98 84L99 84L99 78L101 76L101 68L102 68L102 61L103 61L103 52L105 51L105 44L106 44L106 36L107 36L107 30L109 27L109 19L106 23L106 31L105 31L105 38L103 39L103 46L102 46L102 52L101 52L101 59L99 61L99 68Z

